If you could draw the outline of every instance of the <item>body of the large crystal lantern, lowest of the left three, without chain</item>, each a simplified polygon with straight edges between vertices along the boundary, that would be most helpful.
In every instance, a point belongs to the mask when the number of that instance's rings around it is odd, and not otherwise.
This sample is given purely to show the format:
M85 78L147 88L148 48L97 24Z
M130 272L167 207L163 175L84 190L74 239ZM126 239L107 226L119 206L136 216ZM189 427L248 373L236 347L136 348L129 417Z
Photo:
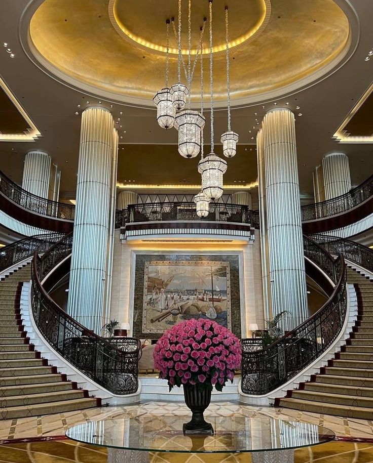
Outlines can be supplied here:
M174 127L179 131L178 151L181 156L188 159L198 156L205 122L205 117L192 109L185 109L176 115Z

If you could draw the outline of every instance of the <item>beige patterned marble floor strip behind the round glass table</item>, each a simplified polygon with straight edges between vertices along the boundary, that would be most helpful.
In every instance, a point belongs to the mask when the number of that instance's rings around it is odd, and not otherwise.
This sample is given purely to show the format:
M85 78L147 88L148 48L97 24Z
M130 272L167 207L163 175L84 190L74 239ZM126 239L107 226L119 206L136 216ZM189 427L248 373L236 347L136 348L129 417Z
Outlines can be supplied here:
M183 403L146 402L139 405L126 405L118 407L91 408L68 413L36 416L13 420L0 421L0 444L12 440L37 438L48 440L64 436L67 428L85 422L92 422L111 417L136 417L146 414L154 415L189 415L189 409ZM338 439L373 443L373 416L372 420L339 418L316 413L301 412L286 408L252 407L232 402L211 403L205 416L233 416L247 417L270 416L289 421L302 421L317 424L331 429ZM16 441L14 441L16 439ZM0 461L1 458L0 458ZM371 461L373 462L373 454Z

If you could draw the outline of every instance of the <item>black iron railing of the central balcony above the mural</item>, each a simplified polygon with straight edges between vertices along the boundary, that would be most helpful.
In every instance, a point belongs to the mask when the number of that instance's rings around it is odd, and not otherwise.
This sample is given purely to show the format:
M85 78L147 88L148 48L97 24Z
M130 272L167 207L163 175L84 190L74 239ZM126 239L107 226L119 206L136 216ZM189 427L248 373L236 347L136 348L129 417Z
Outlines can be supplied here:
M212 221L236 222L251 224L259 228L259 212L252 211L241 204L224 204L211 202L207 217L198 217L194 202L152 202L145 204L131 204L127 210L127 221L158 222L158 221Z

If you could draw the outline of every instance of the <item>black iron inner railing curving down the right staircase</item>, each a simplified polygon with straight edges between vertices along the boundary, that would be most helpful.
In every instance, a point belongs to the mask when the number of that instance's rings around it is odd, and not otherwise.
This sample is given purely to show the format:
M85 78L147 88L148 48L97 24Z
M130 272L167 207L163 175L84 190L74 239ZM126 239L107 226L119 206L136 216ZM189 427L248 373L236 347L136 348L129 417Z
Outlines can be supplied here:
M344 325L347 311L344 258L339 255L333 260L311 238L305 236L304 241L305 256L320 266L336 283L333 293L316 314L273 344L261 349L257 342L241 341L241 389L244 394L265 395L291 380L325 352ZM291 307L283 309L292 312Z

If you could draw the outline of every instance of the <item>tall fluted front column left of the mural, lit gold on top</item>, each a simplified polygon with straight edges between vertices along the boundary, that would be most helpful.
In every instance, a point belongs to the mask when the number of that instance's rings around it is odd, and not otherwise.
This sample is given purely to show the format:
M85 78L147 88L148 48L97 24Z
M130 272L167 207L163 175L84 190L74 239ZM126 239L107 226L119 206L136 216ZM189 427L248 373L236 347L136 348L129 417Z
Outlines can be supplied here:
M108 310L105 281L116 143L110 112L86 109L82 114L68 313L96 333Z

